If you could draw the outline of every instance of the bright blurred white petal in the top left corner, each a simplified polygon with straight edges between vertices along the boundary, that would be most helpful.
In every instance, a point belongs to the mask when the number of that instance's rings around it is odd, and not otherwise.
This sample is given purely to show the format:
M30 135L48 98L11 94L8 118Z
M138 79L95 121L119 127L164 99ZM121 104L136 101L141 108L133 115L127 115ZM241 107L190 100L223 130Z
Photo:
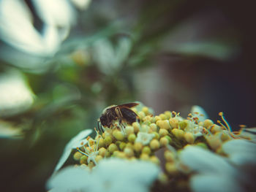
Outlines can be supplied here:
M32 24L29 8L23 1L0 1L0 37L26 52L41 53L44 49L42 38Z

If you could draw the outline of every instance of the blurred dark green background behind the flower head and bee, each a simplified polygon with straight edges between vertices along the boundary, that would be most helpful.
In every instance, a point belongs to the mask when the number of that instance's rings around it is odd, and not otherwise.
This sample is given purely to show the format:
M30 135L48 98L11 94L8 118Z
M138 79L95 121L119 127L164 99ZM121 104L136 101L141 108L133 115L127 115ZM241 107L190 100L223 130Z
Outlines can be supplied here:
M110 104L142 101L156 114L175 110L183 117L197 104L215 122L224 112L233 130L256 125L250 1L80 1L87 8L67 1L70 18L63 4L45 3L43 9L37 1L22 1L45 50L31 46L36 38L26 33L29 26L15 23L23 13L5 2L0 3L1 191L45 191L65 144L97 126ZM52 18L44 18L45 10ZM57 35L47 36L45 28ZM16 29L20 37L12 34ZM26 41L31 44L20 43Z

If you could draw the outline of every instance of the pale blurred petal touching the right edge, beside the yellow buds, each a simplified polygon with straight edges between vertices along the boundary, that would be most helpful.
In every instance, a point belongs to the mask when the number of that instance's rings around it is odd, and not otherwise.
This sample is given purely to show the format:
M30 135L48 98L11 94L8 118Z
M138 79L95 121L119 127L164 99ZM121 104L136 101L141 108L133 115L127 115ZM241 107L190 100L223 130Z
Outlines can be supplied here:
M256 164L256 144L253 142L233 139L225 142L222 149L235 164Z

